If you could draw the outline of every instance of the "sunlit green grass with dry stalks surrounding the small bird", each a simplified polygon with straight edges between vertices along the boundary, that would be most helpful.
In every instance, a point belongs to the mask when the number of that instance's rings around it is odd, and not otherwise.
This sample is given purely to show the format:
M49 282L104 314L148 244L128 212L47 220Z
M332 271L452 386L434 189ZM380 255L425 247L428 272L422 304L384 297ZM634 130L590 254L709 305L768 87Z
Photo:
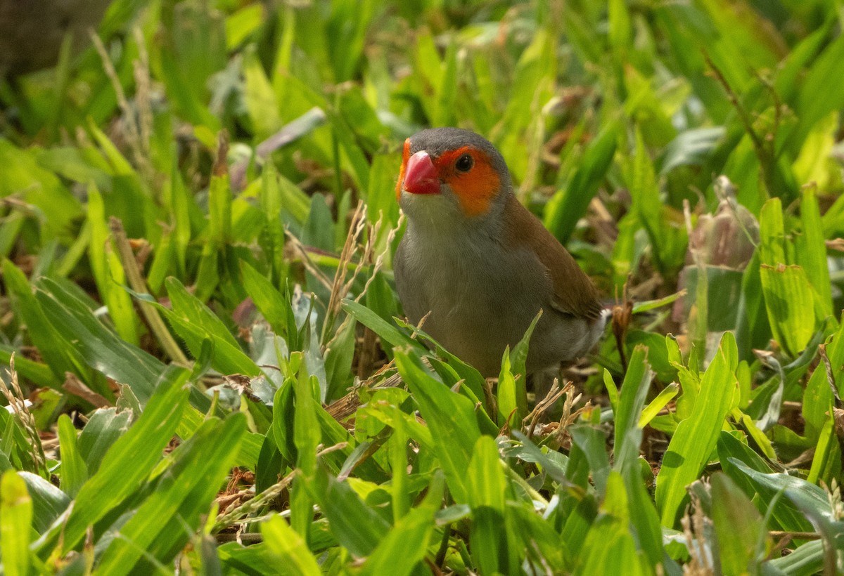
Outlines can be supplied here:
M0 83L3 572L841 573L841 19L116 0ZM547 397L402 320L427 126L616 301Z

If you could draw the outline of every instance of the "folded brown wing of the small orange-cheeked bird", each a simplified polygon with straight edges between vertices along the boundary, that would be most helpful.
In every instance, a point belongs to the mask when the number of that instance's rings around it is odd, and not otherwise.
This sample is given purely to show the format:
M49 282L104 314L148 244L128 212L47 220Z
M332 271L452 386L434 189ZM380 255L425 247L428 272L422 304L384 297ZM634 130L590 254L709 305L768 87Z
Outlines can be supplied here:
M505 222L508 244L527 246L536 253L554 286L551 304L555 309L588 319L598 318L602 312L598 290L568 250L522 206L516 196L508 194L505 210L510 217Z

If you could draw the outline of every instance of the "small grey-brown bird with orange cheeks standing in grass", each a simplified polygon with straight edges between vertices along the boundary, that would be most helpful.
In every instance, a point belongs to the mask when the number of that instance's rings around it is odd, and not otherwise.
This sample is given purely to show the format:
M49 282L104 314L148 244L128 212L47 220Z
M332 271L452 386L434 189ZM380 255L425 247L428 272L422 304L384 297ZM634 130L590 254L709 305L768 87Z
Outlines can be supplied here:
M587 353L607 315L574 258L513 195L495 147L458 128L404 142L396 195L408 225L393 261L414 324L486 377L543 310L527 373Z

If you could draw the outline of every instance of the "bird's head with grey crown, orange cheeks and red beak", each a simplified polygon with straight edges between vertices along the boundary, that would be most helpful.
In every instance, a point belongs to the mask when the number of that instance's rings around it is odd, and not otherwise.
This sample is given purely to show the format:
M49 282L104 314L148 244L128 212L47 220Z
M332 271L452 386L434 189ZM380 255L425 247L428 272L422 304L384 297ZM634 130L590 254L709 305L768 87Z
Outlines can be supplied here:
M488 221L500 213L511 188L501 154L474 132L431 128L404 143L396 192L411 221Z

